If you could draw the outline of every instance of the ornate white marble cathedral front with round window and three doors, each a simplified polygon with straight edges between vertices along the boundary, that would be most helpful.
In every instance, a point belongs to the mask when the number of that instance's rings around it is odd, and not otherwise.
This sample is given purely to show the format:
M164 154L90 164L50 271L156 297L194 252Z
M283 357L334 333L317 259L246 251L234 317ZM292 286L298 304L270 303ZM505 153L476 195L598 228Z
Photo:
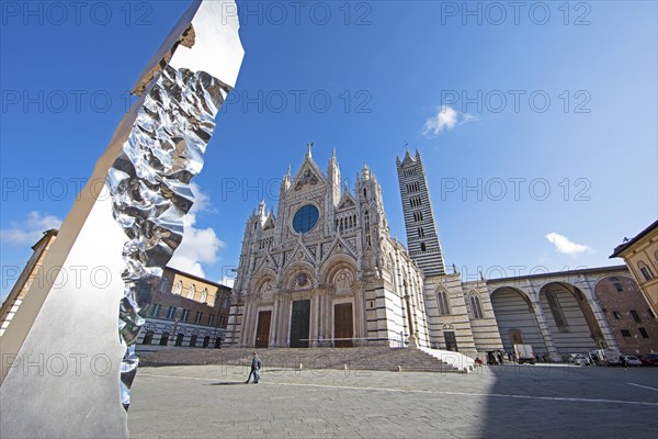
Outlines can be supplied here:
M284 176L276 215L248 218L227 342L237 347L390 347L431 344L422 272L389 236L382 189L364 165L341 188L310 147Z

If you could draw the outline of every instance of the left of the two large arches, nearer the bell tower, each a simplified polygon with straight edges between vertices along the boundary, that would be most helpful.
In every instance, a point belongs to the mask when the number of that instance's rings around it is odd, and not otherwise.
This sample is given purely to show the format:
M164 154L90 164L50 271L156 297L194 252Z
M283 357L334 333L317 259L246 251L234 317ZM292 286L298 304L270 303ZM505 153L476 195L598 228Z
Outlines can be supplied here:
M491 293L491 306L506 352L515 344L531 345L535 354L548 357L544 337L530 299L512 286L500 286Z

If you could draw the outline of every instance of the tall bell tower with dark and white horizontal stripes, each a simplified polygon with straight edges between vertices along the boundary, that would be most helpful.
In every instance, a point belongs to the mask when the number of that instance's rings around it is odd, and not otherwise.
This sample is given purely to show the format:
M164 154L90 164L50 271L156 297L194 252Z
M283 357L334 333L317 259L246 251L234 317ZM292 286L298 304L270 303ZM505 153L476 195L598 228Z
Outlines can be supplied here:
M396 158L396 162L409 256L418 263L426 278L443 275L445 262L420 154L417 149L416 157L412 157L407 150L402 161Z

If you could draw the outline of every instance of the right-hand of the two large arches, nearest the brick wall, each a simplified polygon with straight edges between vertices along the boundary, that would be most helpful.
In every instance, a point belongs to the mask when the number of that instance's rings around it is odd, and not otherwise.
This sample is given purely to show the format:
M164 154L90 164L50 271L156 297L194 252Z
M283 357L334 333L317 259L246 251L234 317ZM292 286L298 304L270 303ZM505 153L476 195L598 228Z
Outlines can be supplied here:
M540 290L540 303L557 353L587 352L604 346L603 333L585 294L566 282L549 282Z

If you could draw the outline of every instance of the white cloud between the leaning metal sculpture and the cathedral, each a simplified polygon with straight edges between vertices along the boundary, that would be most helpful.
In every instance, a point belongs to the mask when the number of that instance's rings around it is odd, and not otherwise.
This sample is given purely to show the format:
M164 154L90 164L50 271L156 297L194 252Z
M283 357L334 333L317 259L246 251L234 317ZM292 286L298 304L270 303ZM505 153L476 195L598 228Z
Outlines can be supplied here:
M209 210L209 198L201 192L197 184L192 183L191 189L195 201L183 221L185 226L183 241L177 248L168 266L204 278L203 263L215 263L217 252L226 244L217 237L213 228L194 227L196 214Z

